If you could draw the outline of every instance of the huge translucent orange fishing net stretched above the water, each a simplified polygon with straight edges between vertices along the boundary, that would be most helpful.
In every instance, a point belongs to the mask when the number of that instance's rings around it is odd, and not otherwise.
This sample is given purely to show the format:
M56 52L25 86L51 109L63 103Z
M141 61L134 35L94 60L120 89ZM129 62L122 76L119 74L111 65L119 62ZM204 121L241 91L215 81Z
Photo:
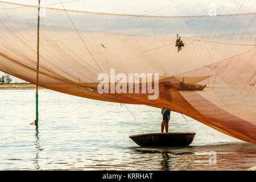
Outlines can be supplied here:
M37 13L35 6L0 2L0 71L34 84ZM46 8L38 84L94 100L166 106L255 142L255 27L255 13L164 17ZM111 68L126 76L159 73L158 99L99 94L97 76Z

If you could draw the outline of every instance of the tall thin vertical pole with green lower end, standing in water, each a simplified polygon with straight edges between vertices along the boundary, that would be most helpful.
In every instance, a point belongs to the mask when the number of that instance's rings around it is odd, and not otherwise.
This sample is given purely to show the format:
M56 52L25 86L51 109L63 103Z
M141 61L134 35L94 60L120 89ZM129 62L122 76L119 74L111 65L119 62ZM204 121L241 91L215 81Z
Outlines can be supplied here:
M38 0L38 35L37 35L37 64L36 64L36 120L35 125L38 126L38 81L39 81L39 28L40 27L40 0Z

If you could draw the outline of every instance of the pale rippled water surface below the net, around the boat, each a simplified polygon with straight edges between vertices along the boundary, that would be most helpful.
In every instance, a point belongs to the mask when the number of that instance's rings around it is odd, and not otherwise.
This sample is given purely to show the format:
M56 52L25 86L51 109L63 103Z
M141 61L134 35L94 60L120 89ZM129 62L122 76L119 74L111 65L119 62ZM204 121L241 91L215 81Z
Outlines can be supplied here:
M171 112L170 132L195 132L189 147L138 147L129 135L159 133L160 109L39 90L0 90L0 169L236 170L256 166L256 145ZM210 151L217 164L209 164Z

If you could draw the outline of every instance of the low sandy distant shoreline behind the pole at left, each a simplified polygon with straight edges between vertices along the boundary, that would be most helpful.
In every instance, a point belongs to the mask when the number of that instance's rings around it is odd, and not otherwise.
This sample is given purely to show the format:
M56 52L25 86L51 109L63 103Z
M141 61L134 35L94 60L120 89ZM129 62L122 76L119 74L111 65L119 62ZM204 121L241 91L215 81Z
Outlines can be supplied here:
M28 90L28 89L36 89L35 84L30 84L30 83L0 83L0 90ZM42 86L39 86L39 89L46 89L43 88Z

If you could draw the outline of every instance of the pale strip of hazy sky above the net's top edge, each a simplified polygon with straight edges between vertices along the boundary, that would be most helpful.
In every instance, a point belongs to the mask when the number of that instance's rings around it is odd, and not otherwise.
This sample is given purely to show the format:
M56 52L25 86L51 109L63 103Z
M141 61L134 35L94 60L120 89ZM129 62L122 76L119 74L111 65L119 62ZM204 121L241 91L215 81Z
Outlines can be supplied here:
M0 0L1 1L1 0ZM38 0L2 0L27 5L37 5ZM255 0L41 0L46 7L63 9L93 11L117 14L163 14L166 16L177 15L205 15L210 10L219 9L217 14L238 14L255 12ZM51 5L56 4L57 5Z

